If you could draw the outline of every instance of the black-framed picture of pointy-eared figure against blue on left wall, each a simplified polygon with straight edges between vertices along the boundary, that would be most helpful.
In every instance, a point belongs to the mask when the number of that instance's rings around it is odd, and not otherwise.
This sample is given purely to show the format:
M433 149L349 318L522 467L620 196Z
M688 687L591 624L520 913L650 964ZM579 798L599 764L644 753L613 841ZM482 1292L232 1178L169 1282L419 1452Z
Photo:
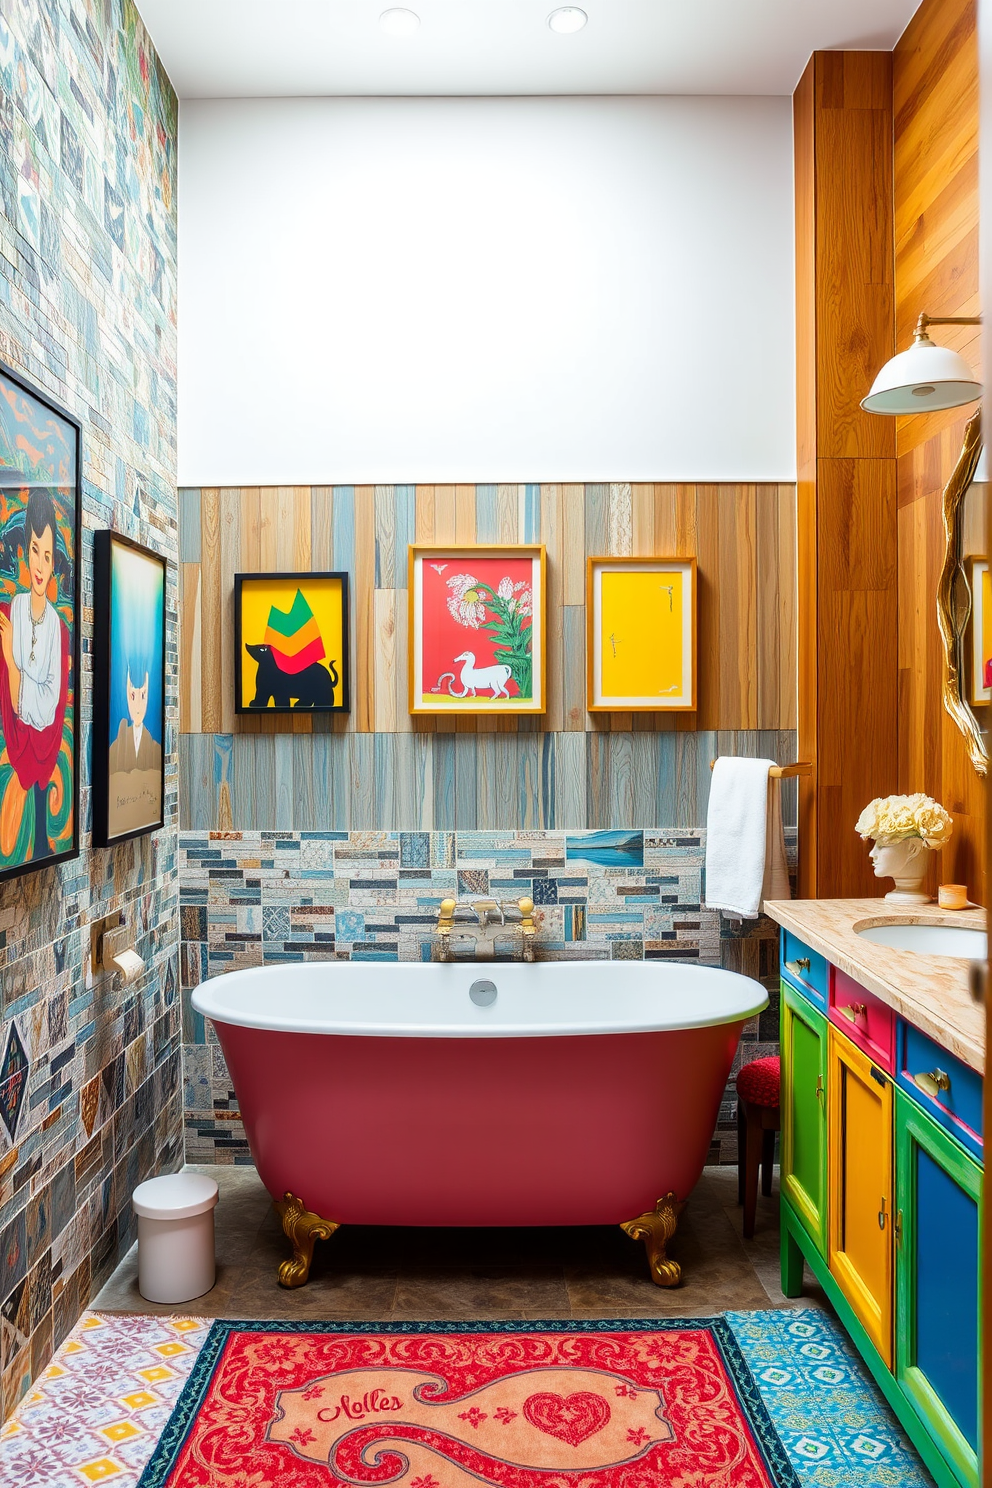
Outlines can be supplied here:
M165 580L150 548L94 539L94 844L165 824Z

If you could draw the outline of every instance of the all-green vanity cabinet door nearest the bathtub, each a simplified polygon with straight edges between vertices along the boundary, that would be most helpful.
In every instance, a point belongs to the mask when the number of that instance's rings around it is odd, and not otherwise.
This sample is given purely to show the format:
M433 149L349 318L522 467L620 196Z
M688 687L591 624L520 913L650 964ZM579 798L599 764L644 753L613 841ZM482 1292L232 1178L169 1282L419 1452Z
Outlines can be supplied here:
M782 982L782 1198L827 1254L827 1019Z

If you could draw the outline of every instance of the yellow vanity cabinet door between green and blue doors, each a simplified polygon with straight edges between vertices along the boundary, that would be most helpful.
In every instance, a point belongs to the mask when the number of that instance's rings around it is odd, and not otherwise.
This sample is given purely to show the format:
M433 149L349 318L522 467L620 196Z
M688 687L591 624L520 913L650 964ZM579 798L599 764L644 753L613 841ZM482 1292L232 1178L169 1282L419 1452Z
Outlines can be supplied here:
M827 1260L892 1364L892 1082L836 1028L828 1040Z

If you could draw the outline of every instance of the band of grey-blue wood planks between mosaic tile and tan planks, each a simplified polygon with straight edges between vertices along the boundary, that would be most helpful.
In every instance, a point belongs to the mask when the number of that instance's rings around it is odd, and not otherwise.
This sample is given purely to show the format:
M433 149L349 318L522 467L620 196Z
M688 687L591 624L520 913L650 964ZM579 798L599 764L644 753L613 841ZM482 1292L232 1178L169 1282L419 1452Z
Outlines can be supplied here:
M709 760L790 760L794 729L654 734L183 734L184 830L491 832L706 820ZM796 781L782 783L796 821Z

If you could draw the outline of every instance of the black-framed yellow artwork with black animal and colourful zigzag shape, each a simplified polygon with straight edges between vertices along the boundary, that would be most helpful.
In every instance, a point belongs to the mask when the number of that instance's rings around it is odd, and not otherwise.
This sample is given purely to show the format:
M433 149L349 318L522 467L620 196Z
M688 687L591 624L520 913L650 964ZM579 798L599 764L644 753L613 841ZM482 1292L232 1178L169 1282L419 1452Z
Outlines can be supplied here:
M348 713L347 573L236 573L235 713Z

